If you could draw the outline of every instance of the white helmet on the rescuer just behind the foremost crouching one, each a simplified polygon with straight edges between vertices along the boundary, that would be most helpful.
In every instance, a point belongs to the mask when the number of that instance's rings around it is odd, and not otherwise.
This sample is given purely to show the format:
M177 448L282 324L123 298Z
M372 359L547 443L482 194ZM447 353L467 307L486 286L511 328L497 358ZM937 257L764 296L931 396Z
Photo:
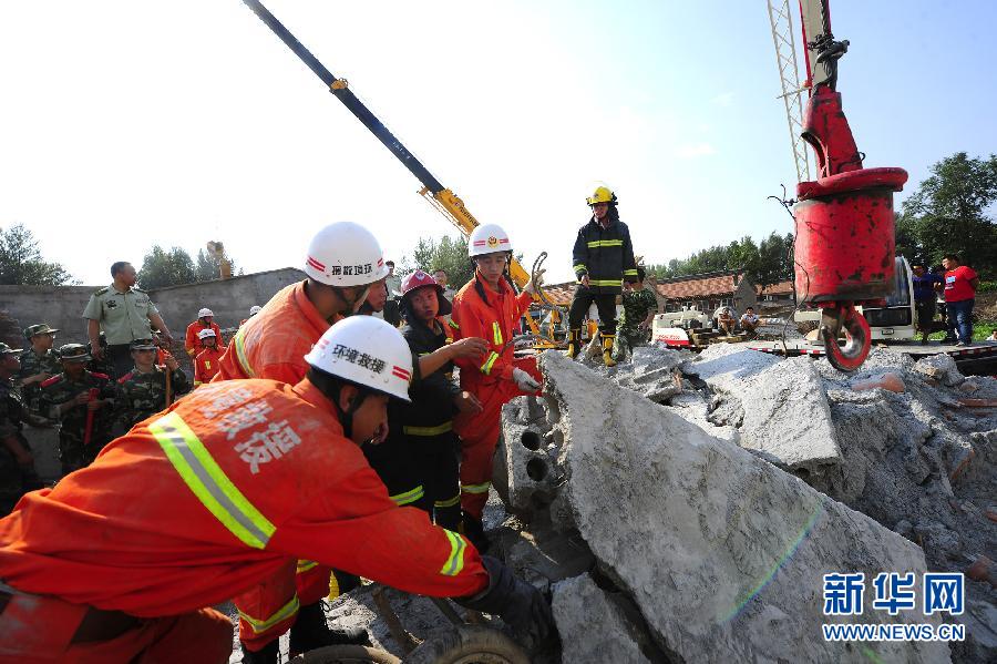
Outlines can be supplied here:
M329 224L308 245L305 274L329 286L367 286L388 276L381 245L352 222Z

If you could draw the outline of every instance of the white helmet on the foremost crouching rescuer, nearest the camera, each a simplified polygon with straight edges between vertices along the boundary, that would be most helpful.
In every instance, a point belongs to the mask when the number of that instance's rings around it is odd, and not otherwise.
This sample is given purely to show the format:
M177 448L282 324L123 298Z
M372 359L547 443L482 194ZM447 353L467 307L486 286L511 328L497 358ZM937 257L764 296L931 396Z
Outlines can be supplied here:
M337 378L411 400L412 351L401 333L380 318L343 318L326 330L305 361Z

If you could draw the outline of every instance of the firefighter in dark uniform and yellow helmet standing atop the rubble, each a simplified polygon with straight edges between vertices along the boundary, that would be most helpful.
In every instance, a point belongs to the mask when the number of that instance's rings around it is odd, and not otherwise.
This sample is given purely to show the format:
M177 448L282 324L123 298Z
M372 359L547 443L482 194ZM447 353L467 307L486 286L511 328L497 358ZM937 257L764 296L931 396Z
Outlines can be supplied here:
M582 350L582 319L592 303L599 311L599 336L603 340L603 361L607 367L613 359L616 339L616 296L623 283L637 283L637 261L630 243L630 229L619 221L616 194L600 186L587 200L592 218L578 231L573 252L578 285L568 311L568 357L575 358Z

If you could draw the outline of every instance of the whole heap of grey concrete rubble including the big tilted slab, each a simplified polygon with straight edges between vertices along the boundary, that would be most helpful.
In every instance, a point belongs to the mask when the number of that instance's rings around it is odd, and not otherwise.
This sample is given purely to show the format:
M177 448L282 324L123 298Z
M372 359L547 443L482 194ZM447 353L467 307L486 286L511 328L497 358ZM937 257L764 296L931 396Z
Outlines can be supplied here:
M825 573L919 578L995 550L997 416L960 399L993 398L997 381L946 359L875 350L844 375L734 345L638 348L609 369L544 354L544 397L503 409L496 488L512 515L494 534L521 573L553 582L563 661L997 655L991 569L967 579L969 639L952 653L821 633L941 623L868 606L825 616Z

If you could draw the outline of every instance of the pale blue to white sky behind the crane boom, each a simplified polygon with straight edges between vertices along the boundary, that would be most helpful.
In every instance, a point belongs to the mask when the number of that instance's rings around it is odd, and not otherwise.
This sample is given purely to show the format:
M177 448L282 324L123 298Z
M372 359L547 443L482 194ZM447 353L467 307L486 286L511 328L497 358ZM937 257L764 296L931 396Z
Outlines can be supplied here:
M268 6L552 280L602 182L648 262L791 231L765 200L795 173L764 2ZM845 112L866 165L911 173L901 200L944 156L997 152L997 2L832 16ZM84 284L153 243L222 239L255 272L338 219L394 258L453 232L237 0L0 4L0 225Z

